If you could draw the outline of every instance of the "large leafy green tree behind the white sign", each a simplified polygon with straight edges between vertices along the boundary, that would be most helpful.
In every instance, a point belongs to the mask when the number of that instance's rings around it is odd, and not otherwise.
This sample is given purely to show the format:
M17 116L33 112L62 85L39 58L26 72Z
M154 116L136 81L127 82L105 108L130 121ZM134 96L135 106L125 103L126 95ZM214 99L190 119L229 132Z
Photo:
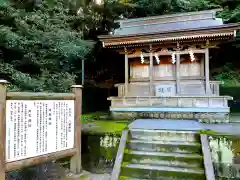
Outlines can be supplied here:
M68 91L93 42L73 27L78 19L61 1L0 5L0 72L10 89ZM37 1L35 1L37 2Z

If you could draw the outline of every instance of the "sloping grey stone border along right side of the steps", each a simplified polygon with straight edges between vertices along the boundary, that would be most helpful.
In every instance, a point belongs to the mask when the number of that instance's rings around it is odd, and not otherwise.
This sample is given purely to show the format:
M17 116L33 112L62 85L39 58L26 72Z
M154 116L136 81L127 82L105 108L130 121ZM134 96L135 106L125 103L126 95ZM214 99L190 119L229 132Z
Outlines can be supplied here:
M206 134L201 134L200 139L201 139L201 144L202 144L202 153L203 153L206 180L215 180L213 162L212 162L212 156L211 156L211 152L210 152L208 137Z

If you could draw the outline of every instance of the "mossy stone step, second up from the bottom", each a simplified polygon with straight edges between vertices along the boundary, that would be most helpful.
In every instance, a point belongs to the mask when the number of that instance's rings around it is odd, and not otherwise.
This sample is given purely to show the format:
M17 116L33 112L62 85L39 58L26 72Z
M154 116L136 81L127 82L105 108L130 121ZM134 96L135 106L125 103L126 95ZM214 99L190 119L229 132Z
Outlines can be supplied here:
M203 168L203 157L198 154L129 151L124 162L186 168Z

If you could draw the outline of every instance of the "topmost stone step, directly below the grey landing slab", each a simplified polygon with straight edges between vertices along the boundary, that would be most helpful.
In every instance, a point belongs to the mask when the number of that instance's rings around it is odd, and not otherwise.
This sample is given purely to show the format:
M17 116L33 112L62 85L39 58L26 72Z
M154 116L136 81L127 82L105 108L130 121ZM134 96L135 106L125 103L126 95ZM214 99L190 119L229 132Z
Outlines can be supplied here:
M131 139L199 142L195 131L130 129Z

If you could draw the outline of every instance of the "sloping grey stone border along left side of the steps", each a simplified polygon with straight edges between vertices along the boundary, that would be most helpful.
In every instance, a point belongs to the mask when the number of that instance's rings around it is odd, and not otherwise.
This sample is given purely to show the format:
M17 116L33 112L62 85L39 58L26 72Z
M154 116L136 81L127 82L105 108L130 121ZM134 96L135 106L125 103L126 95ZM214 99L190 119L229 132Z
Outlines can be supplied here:
M125 149L125 146L126 146L126 143L127 143L127 138L128 138L128 130L124 130L122 132L121 140L120 140L120 143L119 143L119 148L118 148L115 164L114 164L114 167L113 167L111 180L118 180L119 179L119 176L120 176L120 173L121 173L121 165L122 165L123 156L124 156L124 149Z

